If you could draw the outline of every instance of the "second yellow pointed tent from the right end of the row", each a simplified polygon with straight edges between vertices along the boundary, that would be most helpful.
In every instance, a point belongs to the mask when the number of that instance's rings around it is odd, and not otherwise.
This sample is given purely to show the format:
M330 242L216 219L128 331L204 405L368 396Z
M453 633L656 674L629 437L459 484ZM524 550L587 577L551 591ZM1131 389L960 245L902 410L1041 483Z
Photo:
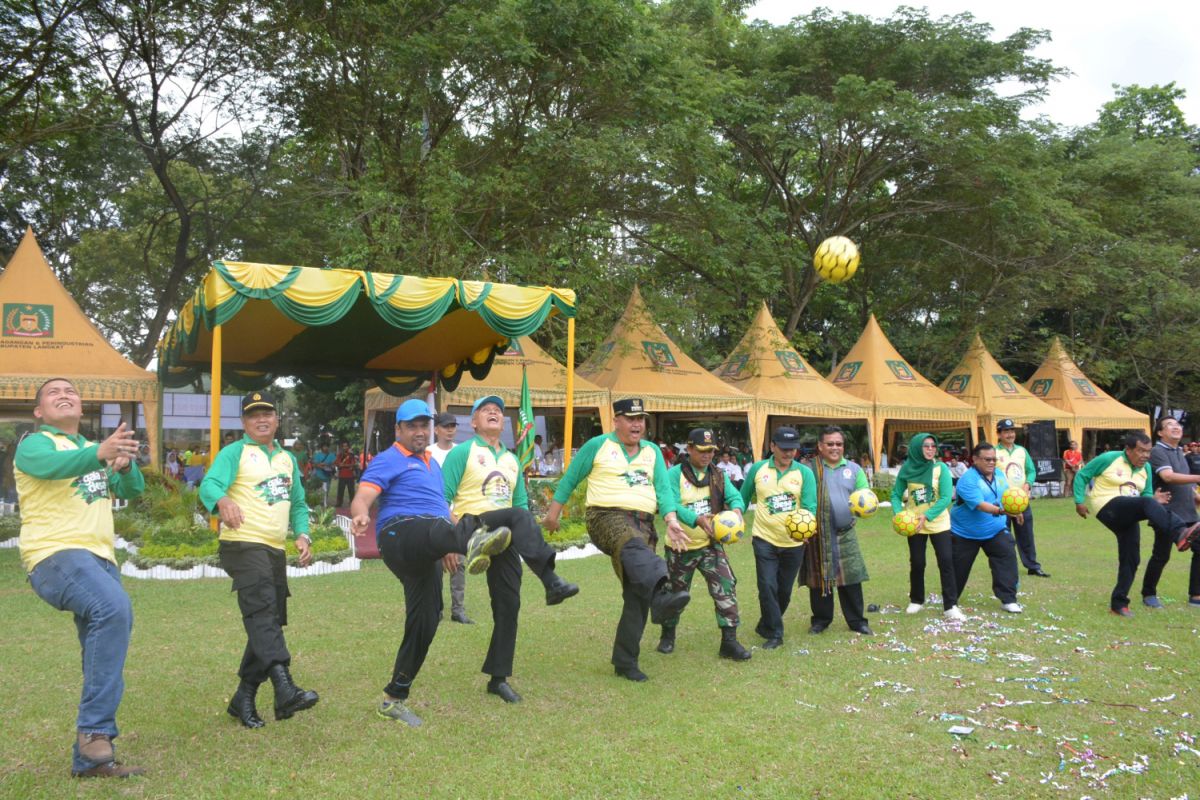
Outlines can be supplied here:
M959 365L942 381L942 390L974 405L984 432L995 431L996 422L1003 419L1012 419L1018 425L1050 420L1056 428L1069 428L1075 419L1073 414L1034 397L1004 372L979 333L976 333Z

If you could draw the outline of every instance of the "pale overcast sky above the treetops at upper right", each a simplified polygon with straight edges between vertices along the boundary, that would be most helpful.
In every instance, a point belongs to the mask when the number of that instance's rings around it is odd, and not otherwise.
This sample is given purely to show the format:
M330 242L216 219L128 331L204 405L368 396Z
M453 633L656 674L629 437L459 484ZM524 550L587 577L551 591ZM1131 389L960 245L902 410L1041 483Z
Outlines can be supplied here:
M839 13L884 18L899 5L895 0L760 0L746 17L778 25L826 6ZM1088 125L1112 100L1112 84L1148 86L1174 80L1188 92L1180 103L1188 124L1200 125L1200 2L917 0L905 5L923 6L934 18L970 12L989 23L996 38L1021 28L1049 30L1051 41L1034 54L1073 74L1051 86L1049 100L1033 109L1033 116L1044 114L1067 126Z

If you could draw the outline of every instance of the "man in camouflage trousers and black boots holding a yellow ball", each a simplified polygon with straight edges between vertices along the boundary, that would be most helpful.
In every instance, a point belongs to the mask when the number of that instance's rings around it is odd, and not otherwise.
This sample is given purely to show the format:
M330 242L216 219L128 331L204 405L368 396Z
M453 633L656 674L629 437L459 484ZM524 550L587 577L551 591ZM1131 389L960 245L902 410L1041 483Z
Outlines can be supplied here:
M750 651L738 642L737 577L725 548L713 539L713 519L726 509L742 516L745 503L733 487L730 476L712 468L716 453L716 440L707 428L696 428L688 434L688 457L667 470L672 499L679 515L679 523L688 534L688 543L682 548L667 548L667 576L671 589L691 589L691 576L700 570L708 583L708 594L716 607L716 626L721 630L721 646L716 655L733 661L745 661ZM674 652L676 626L679 614L662 621L659 652Z

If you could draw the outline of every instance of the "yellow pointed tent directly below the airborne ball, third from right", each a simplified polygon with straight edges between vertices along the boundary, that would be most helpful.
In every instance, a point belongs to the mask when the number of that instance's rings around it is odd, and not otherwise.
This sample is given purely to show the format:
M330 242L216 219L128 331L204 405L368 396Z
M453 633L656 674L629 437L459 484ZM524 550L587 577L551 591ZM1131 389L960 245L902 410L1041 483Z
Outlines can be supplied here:
M838 389L875 407L870 426L871 458L876 469L883 452L883 426L888 422L920 422L928 431L976 429L974 409L913 369L883 335L875 314L866 320L858 342L829 379Z

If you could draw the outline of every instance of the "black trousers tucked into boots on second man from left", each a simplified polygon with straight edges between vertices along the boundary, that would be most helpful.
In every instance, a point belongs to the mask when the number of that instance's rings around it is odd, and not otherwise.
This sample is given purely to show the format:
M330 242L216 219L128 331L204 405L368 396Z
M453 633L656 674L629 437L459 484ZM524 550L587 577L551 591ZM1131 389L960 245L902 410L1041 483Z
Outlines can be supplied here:
M241 624L246 628L246 649L238 676L247 684L266 680L275 664L289 666L292 654L283 640L288 624L287 554L266 545L220 542L221 569L233 578L238 593Z

